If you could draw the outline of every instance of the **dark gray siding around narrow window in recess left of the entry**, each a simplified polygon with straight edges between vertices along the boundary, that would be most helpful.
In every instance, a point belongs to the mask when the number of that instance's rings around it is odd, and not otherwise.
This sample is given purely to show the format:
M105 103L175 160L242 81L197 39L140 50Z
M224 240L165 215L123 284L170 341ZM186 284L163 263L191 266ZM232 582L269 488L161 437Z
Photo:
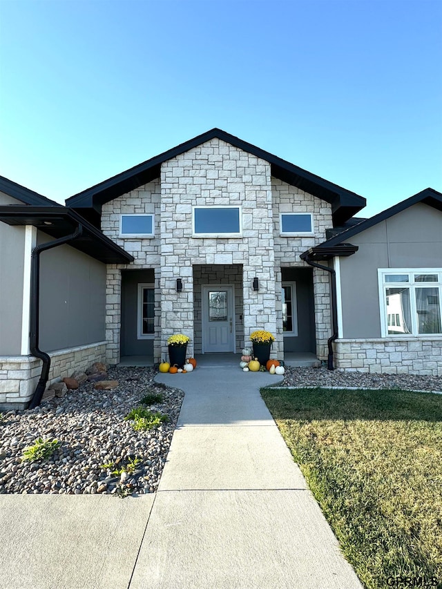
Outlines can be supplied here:
M122 271L121 356L153 356L153 339L139 340L137 334L138 284L153 284L154 271Z

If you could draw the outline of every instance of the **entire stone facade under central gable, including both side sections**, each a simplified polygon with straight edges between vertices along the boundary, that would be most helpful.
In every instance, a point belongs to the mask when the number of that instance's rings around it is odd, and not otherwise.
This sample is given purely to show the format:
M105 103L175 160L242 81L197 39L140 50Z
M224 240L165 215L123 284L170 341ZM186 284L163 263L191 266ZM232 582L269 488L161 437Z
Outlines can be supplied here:
M193 206L213 205L240 206L239 238L193 235ZM282 237L282 212L313 213L314 236ZM121 238L122 213L155 214L154 238ZM221 139L163 162L160 178L102 209L102 231L135 257L130 266L108 267L107 361L119 361L121 270L129 267L155 270L155 361L167 356L167 338L177 332L191 338L189 354L200 352L204 280L235 286L237 349L249 345L251 331L266 329L276 336L272 352L282 358L281 267L305 267L300 253L325 240L329 227L330 204L272 177L268 162ZM252 289L255 277L258 291ZM328 276L314 269L314 277L317 348L325 358L331 334ZM181 293L176 291L177 278L183 282Z

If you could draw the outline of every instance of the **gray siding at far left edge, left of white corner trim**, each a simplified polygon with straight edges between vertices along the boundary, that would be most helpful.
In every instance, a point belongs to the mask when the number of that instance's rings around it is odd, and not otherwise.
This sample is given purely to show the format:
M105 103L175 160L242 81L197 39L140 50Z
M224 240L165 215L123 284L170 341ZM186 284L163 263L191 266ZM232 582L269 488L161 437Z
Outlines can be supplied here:
M0 205L23 204L0 192ZM0 222L0 356L21 353L25 228Z

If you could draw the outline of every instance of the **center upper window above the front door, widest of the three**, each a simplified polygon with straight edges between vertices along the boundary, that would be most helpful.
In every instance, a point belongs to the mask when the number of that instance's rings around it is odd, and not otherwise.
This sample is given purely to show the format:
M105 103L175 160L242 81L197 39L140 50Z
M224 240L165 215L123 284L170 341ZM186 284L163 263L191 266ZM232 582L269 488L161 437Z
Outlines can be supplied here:
M240 206L194 206L192 233L196 238L236 238L242 235Z

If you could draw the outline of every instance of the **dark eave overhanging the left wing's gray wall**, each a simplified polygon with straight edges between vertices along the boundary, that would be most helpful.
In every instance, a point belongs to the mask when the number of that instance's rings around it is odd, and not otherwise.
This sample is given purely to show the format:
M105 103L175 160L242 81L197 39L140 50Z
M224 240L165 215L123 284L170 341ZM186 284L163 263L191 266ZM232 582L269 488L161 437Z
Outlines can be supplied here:
M8 225L33 225L51 237L60 238L71 233L78 224L83 227L81 237L70 246L90 255L104 264L128 264L134 258L96 229L81 215L66 206L0 206L0 221ZM50 224L45 224L49 222Z

